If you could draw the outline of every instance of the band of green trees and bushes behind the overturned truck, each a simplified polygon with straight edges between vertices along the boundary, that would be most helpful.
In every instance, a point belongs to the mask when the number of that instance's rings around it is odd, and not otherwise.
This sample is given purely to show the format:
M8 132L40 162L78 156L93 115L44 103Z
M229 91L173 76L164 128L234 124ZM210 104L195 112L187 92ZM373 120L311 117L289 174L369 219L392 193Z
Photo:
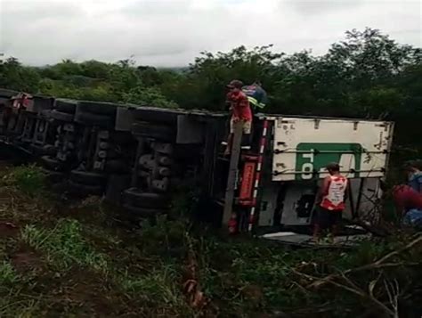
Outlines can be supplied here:
M93 101L224 110L225 85L259 79L265 111L281 114L394 120L396 141L420 150L422 49L400 45L377 29L353 29L321 56L274 53L272 45L200 53L184 69L63 60L29 67L0 63L0 87Z

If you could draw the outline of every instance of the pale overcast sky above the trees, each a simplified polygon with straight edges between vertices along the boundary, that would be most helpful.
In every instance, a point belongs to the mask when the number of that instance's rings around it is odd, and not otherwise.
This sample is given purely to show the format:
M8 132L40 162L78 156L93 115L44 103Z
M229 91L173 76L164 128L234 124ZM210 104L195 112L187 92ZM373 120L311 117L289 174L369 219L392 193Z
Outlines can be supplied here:
M28 65L178 67L239 45L319 55L365 27L421 47L422 0L0 0L0 53Z

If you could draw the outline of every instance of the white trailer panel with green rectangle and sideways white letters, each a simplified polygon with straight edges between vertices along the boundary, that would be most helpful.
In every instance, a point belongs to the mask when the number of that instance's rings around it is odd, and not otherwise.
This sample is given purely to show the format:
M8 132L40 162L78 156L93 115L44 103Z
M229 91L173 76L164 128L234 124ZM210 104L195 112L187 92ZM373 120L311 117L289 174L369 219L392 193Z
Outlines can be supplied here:
M349 178L382 177L394 124L326 118L274 120L272 181L311 180L338 162Z

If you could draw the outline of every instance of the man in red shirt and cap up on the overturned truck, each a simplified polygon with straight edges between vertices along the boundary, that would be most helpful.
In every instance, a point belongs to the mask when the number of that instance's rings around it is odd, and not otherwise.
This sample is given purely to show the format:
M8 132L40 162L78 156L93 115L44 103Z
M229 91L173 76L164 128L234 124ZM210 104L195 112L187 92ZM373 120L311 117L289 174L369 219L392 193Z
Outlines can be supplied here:
M226 96L226 101L230 104L231 120L230 120L230 135L227 140L227 148L224 151L225 155L231 152L231 143L233 142L234 125L238 122L242 123L244 140L249 140L249 135L252 127L252 111L248 101L248 96L242 92L243 83L234 79L227 86L230 92Z

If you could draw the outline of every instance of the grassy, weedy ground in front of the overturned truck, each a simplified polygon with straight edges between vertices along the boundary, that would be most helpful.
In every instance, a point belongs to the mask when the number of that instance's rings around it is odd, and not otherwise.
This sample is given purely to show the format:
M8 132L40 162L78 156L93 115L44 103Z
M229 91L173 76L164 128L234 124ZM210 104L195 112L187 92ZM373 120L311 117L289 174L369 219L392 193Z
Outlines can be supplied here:
M291 250L216 236L181 218L127 229L114 212L98 198L56 200L34 167L4 167L0 317L382 317L353 292L306 289L305 275L370 264L406 241L363 242L353 252ZM420 262L421 255L418 249L400 261ZM404 275L403 290L420 278L406 268L355 283L367 287L390 274ZM371 292L384 300L382 289L376 281Z

